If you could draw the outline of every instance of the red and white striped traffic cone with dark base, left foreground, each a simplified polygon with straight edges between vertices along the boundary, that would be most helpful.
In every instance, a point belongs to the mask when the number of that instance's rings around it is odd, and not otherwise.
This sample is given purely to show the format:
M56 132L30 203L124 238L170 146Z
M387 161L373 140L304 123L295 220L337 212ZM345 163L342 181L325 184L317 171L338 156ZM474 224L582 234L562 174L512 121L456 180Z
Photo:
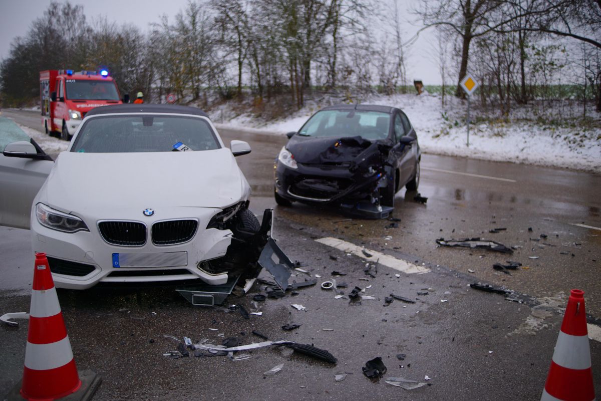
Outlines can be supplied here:
M76 392L73 399L78 399L79 393L91 396L100 378L90 371L83 376L84 386L75 366L46 254L36 253L23 380L8 394L8 399L16 399L17 394L19 399L36 401L55 400Z

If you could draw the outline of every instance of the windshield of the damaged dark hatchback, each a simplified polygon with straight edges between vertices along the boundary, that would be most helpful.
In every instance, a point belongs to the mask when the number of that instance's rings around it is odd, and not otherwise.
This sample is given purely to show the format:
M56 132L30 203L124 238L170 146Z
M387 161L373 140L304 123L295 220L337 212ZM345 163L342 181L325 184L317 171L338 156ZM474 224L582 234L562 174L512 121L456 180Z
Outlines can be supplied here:
M390 126L390 114L379 111L324 110L313 115L302 126L299 135L315 136L362 136L365 139L386 139Z

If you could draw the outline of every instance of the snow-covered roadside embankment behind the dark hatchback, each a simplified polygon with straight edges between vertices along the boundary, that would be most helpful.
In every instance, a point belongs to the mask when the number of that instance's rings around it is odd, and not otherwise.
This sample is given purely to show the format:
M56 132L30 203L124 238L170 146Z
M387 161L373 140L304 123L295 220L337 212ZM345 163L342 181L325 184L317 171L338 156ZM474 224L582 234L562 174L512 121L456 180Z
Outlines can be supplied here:
M601 173L601 129L581 131L577 127L541 126L528 121L479 123L470 127L467 147L466 103L453 96L448 96L445 100L445 108L441 105L439 95L427 93L421 96L371 96L362 99L361 103L403 109L413 124L418 134L419 145L425 153ZM229 120L223 119L223 123L218 126L260 129L261 132L281 135L298 130L317 109L316 106L305 106L284 120L267 124L261 124L250 114L240 115ZM221 113L222 111L213 111L212 117L215 121L222 120Z

